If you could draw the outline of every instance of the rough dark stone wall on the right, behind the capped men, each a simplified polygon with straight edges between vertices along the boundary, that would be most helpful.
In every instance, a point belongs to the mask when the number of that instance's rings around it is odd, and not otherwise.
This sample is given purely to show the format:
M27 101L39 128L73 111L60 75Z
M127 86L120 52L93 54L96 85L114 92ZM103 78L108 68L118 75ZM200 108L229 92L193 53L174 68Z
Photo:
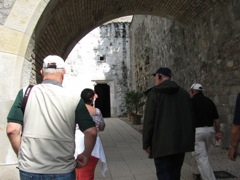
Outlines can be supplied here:
M217 105L223 146L235 100L240 91L240 1L219 6L191 26L156 16L134 16L130 27L133 86L153 85L151 73L160 66L173 71L173 80L186 90L194 82Z

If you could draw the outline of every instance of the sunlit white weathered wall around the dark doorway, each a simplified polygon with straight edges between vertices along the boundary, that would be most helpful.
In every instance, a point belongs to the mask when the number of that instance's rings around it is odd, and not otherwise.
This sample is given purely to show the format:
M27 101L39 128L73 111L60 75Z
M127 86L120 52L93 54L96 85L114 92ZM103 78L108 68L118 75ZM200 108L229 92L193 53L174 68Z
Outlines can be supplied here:
M111 117L121 116L123 97L130 82L129 41L129 22L110 22L91 31L69 54L63 86L80 94L84 88L94 89L98 82L107 83Z

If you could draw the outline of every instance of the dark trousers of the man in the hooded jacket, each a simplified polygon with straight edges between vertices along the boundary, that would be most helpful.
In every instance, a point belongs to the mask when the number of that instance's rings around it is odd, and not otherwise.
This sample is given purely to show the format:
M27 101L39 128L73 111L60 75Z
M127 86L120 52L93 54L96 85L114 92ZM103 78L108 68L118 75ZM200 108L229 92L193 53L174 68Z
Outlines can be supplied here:
M185 153L154 158L157 177L161 180L180 180Z

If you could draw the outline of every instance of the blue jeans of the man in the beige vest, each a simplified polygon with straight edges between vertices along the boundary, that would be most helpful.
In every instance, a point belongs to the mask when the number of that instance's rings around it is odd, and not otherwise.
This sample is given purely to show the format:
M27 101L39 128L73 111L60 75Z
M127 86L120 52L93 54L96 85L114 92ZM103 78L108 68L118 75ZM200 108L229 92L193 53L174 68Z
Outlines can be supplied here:
M66 174L35 174L19 170L21 180L75 180L75 171Z

